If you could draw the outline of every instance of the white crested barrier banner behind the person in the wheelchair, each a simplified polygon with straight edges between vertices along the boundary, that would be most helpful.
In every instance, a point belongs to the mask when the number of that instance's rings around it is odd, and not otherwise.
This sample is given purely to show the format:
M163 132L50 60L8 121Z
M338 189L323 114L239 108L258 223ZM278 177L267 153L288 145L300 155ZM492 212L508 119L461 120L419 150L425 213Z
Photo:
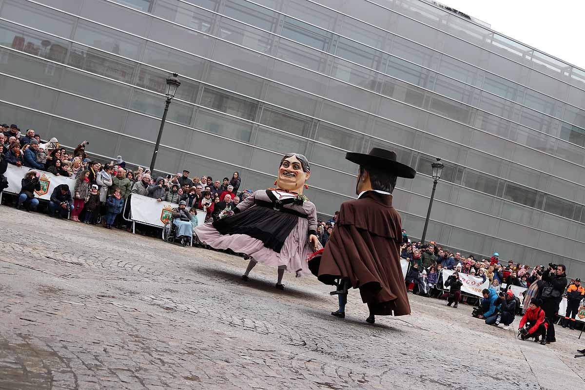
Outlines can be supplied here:
M130 219L139 223L163 227L166 220L171 218L173 209L178 206L177 203L157 202L156 199L148 196L132 194L130 195ZM203 210L197 210L199 225L205 222L206 215L207 213Z

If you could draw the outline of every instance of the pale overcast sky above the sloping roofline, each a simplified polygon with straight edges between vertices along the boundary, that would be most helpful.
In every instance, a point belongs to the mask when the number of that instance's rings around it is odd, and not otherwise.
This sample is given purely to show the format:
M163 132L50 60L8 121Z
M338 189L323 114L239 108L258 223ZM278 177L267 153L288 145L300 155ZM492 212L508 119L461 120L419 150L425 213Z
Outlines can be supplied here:
M437 0L497 32L585 68L584 0Z

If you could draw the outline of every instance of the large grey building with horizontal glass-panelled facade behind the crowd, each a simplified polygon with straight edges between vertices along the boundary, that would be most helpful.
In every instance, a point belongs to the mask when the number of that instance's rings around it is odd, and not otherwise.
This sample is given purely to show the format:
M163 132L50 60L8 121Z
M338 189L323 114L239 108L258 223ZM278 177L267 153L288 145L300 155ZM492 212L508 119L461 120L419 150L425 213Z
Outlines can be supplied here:
M146 165L164 80L182 82L157 169L242 188L278 158L312 163L332 215L355 192L346 151L397 151L405 229L585 274L585 71L421 0L0 0L0 120Z

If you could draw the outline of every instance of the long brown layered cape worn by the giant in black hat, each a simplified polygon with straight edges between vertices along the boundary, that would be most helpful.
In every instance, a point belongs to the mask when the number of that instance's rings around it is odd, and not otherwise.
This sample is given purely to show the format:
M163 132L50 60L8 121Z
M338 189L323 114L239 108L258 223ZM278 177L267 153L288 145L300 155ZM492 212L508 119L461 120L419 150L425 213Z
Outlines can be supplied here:
M349 278L373 314L410 314L400 266L401 230L392 195L368 191L341 205L322 256L310 260L309 268L325 284Z

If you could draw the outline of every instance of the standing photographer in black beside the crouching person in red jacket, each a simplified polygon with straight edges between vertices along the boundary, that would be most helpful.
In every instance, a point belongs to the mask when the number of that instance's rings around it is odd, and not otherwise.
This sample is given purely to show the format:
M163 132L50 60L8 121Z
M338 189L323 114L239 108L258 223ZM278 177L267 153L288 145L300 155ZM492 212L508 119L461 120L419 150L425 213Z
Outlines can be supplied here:
M555 339L555 315L559 311L559 303L563 299L563 292L567 287L567 268L564 264L549 263L548 270L542 273L542 287L539 288L539 298L542 299L542 310L549 322L546 332L546 342L554 343Z

